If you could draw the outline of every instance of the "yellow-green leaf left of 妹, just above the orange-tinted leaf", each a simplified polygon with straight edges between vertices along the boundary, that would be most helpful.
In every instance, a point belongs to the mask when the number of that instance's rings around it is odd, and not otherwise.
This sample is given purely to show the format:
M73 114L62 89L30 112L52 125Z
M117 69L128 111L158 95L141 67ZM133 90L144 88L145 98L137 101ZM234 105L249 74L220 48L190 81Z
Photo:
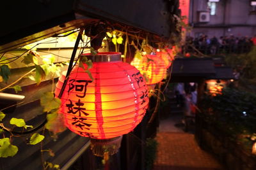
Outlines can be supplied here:
M44 111L52 111L60 108L61 101L59 98L54 97L52 92L45 92L40 97L40 104L44 106Z

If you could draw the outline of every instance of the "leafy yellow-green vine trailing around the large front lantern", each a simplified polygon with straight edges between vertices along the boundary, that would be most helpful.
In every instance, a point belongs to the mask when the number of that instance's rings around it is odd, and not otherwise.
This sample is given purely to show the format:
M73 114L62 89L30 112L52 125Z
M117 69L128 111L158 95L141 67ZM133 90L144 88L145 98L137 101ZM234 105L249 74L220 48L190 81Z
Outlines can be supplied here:
M90 25L89 25L90 27ZM87 29L86 29L87 30ZM91 30L91 28L89 29ZM156 48L153 48L152 45L149 45L148 43L148 37L145 36L146 38L141 38L140 31L131 31L129 27L124 27L122 30L124 31L117 31L115 29L108 28L108 31L103 32L106 34L106 39L107 41L113 43L115 46L115 51L119 52L122 47L124 47L124 60L127 57L127 53L131 53L131 49L129 46L133 46L136 49L135 55L132 57L135 58L142 58L143 55L145 54L151 54L155 53ZM78 33L79 31L79 33ZM70 31L66 32L65 34L59 35L60 37L65 37L65 36L72 36L72 39L74 39L77 34L80 34L81 29L77 29L75 31ZM132 34L131 34L132 32ZM90 32L91 33L91 32ZM99 32L100 38L102 32ZM134 35L134 33L136 35ZM84 34L83 34L84 36ZM124 38L125 41L124 41ZM43 43L56 43L60 39L56 38L53 41L45 41ZM26 46L28 48L23 52L21 55L13 55L12 57L6 57L6 53L3 53L0 57L0 80L3 80L2 85L4 85L3 88L0 89L0 92L4 92L6 89L13 89L15 92L19 92L22 90L22 87L19 86L19 82L24 80L24 79L30 79L36 83L36 85L40 85L42 81L45 80L52 80L52 90L51 92L45 92L42 94L40 97L40 105L42 106L44 113L46 114L46 120L42 123L42 125L38 127L33 127L32 125L27 125L25 120L22 118L11 118L10 122L5 122L1 123L0 127L1 130L8 132L10 134L9 137L4 136L5 134L3 133L3 138L0 139L0 157L13 157L14 155L19 152L18 146L13 145L12 143L12 138L19 138L22 135L26 134L29 136L28 140L28 145L38 145L40 143L41 147L41 159L42 159L42 166L43 169L49 169L49 168L54 168L54 169L60 169L60 166L57 164L52 164L49 161L44 160L44 152L49 153L50 156L54 156L54 152L51 149L44 149L44 139L45 139L45 130L49 131L52 134L52 137L54 139L57 138L58 134L60 132L65 131L66 127L63 125L63 117L62 114L58 114L59 108L61 101L58 97L54 96L53 90L54 90L54 78L57 76L60 76L60 71L61 68L67 64L71 64L70 67L71 69L79 62L79 67L82 67L84 71L90 76L90 78L93 80L92 74L90 73L90 68L92 68L92 60L88 60L86 57L80 57L80 55L84 52L84 48L88 48L88 43L90 43L92 40L95 40L99 38L98 34L93 34L92 37L90 37L90 40L88 41L88 37L86 39L81 39L83 42L81 44L80 52L76 60L74 62L56 62L56 56L57 57L62 57L62 58L67 58L63 57L51 52L44 52L47 53L48 55L40 55L38 52L39 50L35 50L35 47L39 44L32 45L32 46ZM164 47L166 45L163 45ZM96 55L98 53L98 49L93 48L93 46L90 46L89 48L90 53L92 55ZM88 50L88 51L89 51ZM76 53L75 53L76 54ZM14 62L17 59L21 59L22 64L25 64L28 66L28 68L32 67L27 73L24 73L21 75L17 80L13 81L12 83L9 83L8 85L6 84L7 81L9 80L11 76L11 67L10 63ZM68 58L69 59L69 58ZM151 59L147 59L147 62L152 61ZM73 65L74 64L74 65ZM87 67L85 68L83 64L86 64ZM169 72L170 74L170 72ZM145 73L143 74L145 76L145 80L147 81L147 76ZM168 76L168 75L167 75ZM169 76L170 77L170 76ZM68 76L66 77L68 78ZM169 80L168 80L169 81ZM17 85L18 84L18 85ZM165 88L164 88L165 89ZM159 83L159 89L154 90L152 93L153 96L157 96L157 106L154 110L154 113L152 114L152 118L156 115L156 111L159 105L159 101L164 96L163 92L161 91L161 83ZM20 104L20 103L19 103ZM12 105L14 106L14 105ZM5 109L5 108L4 108ZM2 122L4 118L6 117L5 113L0 111L0 121ZM152 118L150 118L150 122L152 121ZM13 125L14 127L20 127L22 129L21 132L15 132L13 129L10 129L5 126L5 124L10 124ZM43 128L42 128L43 127ZM38 133L39 129L42 130L42 132Z

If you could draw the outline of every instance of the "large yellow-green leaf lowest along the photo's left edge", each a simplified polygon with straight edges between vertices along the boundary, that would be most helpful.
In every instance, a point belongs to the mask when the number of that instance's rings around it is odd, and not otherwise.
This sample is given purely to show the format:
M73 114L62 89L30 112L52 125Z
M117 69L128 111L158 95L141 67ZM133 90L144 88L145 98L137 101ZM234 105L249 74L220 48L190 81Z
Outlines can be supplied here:
M10 138L0 139L0 157L13 157L18 150L17 146L11 145Z

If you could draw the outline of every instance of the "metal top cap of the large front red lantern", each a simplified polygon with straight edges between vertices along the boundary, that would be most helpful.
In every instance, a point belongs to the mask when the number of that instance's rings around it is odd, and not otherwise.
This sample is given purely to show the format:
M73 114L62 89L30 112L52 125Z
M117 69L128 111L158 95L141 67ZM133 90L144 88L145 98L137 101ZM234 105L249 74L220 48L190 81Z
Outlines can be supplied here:
M92 55L91 53L83 53L81 57L87 57L88 60L92 62L111 62L111 61L121 61L120 52L99 52L97 55Z

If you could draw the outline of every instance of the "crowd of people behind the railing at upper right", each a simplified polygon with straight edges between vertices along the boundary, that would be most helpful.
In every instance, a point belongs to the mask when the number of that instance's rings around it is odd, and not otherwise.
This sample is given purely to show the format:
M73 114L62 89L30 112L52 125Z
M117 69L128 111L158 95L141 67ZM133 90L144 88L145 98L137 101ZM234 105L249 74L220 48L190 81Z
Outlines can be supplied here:
M202 34L198 38L186 37L186 43L182 46L183 53L204 53L206 55L216 55L218 53L246 53L250 52L253 45L256 45L256 35L253 37L229 36L209 37Z

